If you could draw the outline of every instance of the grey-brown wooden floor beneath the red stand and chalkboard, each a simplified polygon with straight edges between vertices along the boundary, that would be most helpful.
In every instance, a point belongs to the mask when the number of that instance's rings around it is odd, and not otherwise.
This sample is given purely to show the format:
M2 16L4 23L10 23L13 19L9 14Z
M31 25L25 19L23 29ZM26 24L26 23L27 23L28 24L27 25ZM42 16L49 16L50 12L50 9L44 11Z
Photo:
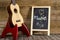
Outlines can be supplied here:
M12 36L6 36L6 38L0 38L0 40L12 40ZM60 40L60 35L32 35L30 37L27 36L18 36L17 40Z

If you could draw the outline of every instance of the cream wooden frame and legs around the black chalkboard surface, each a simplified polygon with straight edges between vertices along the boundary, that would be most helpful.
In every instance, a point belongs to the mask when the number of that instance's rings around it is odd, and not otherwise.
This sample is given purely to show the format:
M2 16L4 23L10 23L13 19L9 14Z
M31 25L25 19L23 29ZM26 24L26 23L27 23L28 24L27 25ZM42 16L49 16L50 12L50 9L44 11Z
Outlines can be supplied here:
M48 29L33 29L33 14L34 14L34 8L48 8ZM31 35L33 34L33 31L47 31L48 36L50 35L50 6L32 6L32 14L31 14Z

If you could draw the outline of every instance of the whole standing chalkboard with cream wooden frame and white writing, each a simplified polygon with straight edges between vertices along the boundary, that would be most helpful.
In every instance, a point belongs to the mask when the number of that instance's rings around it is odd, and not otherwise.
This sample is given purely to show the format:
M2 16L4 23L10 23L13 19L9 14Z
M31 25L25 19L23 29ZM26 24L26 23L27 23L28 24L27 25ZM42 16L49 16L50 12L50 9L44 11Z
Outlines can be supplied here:
M50 35L50 6L33 6L31 15L32 31L48 31Z

